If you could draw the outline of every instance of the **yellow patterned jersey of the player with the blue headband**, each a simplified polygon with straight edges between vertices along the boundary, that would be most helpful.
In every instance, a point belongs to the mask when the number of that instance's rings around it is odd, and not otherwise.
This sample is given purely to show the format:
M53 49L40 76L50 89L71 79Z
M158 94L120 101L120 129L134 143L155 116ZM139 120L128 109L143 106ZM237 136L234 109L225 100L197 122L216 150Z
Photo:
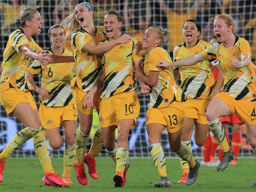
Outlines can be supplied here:
M101 70L101 58L81 50L90 41L94 45L98 45L99 42L106 39L104 27L95 26L95 30L95 37L82 28L71 35L71 44L75 54L75 62L77 63L77 76L72 80L71 86L75 85L85 92L90 91L98 80L99 71Z

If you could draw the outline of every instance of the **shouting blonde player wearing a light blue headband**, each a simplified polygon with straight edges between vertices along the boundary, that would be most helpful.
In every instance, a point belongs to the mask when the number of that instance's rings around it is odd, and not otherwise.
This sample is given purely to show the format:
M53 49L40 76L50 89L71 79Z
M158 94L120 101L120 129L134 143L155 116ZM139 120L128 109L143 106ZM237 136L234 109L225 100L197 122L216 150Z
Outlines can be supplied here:
M83 2L75 7L61 26L67 28L67 35L71 34L71 44L75 54L75 62L77 63L77 76L71 81L73 87L73 96L77 105L77 113L80 121L80 129L76 134L76 176L77 180L82 185L87 185L88 179L84 172L84 162L88 164L89 173L94 178L98 178L95 169L95 159L90 153L84 153L86 150L86 142L90 136L92 127L92 112L93 107L84 107L84 98L88 91L95 85L98 80L99 72L101 71L100 56L120 43L131 41L130 35L122 35L109 43L98 45L99 42L105 41L104 27L94 26L93 24L93 8L90 3ZM100 92L95 93L94 105L99 111ZM97 133L101 135L100 130ZM99 142L102 142L100 140ZM98 145L97 152L101 150L102 145ZM97 154L97 153L96 153ZM92 167L92 172L90 171Z

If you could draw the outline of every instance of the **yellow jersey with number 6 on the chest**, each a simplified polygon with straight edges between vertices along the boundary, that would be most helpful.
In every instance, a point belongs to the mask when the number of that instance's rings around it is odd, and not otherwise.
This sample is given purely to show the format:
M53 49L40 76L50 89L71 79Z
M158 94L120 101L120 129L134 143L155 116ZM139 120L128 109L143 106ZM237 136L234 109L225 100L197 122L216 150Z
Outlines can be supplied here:
M50 48L47 49L49 54L54 54ZM64 48L62 56L73 56L73 53ZM47 66L41 65L40 62L35 60L28 71L41 76L41 88L50 91L48 99L41 99L39 102L48 107L60 107L69 104L73 100L72 89L70 86L71 78L73 77L72 68L75 66L74 62L71 63L50 63Z

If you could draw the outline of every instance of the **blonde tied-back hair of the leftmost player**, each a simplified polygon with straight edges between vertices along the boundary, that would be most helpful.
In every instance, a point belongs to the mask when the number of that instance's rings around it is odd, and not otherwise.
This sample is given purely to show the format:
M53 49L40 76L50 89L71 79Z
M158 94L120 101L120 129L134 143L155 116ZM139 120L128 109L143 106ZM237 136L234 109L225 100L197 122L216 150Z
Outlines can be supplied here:
M22 9L20 11L19 17L17 17L14 20L13 25L24 27L26 25L26 21L31 21L31 19L33 18L34 13L37 13L37 12L39 13L39 11L37 10L38 8L39 7L28 7L28 8L26 8L24 6L24 9Z

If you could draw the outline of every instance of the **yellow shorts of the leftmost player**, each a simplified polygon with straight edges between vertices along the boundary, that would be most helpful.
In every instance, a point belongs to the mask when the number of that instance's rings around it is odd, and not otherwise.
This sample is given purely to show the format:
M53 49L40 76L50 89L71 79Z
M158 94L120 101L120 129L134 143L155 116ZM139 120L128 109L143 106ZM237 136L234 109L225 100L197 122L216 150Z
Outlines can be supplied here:
M7 114L12 114L19 103L29 103L33 110L37 109L36 101L30 91L21 91L17 88L10 88L0 92L0 102Z

